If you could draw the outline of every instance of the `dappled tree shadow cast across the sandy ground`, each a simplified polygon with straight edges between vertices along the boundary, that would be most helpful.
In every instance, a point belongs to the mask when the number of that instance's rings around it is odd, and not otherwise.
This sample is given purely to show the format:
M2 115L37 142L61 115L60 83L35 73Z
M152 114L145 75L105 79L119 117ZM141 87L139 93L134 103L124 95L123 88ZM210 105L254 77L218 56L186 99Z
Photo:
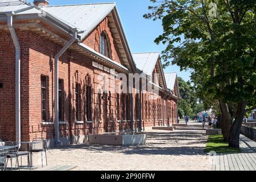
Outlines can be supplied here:
M189 146L205 143L204 135L205 131L198 130L198 128L190 128L187 131L149 132L144 146L108 146L86 143L56 149L61 151L80 149L99 153L109 151L126 155L207 155L203 146Z

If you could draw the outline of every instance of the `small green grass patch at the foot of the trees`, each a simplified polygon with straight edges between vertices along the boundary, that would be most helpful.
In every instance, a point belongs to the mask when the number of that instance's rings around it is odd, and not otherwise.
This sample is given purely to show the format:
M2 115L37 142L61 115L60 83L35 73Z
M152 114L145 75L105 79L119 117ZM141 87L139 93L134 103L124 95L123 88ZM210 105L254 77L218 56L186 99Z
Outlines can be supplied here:
M229 147L228 142L224 142L222 135L210 135L204 152L215 151L218 153L240 153L240 148Z

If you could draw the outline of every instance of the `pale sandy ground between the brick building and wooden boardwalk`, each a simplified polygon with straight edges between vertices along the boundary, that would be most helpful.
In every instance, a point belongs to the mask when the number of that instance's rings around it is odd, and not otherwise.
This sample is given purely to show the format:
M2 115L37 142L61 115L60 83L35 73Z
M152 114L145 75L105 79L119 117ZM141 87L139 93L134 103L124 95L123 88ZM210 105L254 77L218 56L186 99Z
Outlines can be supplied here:
M48 165L71 165L86 171L210 170L209 156L203 151L207 136L200 126L189 123L175 131L147 129L145 146L81 144L51 149L47 151ZM35 154L34 164L40 163L40 155Z

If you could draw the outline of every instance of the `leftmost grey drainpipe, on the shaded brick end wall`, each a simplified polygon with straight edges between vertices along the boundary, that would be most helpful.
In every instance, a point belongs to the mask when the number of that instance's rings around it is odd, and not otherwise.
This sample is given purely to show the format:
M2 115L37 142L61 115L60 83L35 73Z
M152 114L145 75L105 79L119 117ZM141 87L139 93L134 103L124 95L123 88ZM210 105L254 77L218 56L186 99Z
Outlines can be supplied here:
M13 27L13 12L6 13L7 24L15 46L15 133L16 142L20 142L20 45ZM20 146L20 144L19 144Z

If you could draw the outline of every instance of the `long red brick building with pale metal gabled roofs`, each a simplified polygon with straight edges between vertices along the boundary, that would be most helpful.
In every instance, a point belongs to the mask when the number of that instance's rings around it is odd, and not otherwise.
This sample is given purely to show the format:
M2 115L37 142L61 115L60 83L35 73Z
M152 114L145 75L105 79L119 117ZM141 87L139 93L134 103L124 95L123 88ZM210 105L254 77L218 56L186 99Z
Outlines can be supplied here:
M35 5L0 0L1 139L54 146L176 122L177 75L159 53L131 53L115 3Z

